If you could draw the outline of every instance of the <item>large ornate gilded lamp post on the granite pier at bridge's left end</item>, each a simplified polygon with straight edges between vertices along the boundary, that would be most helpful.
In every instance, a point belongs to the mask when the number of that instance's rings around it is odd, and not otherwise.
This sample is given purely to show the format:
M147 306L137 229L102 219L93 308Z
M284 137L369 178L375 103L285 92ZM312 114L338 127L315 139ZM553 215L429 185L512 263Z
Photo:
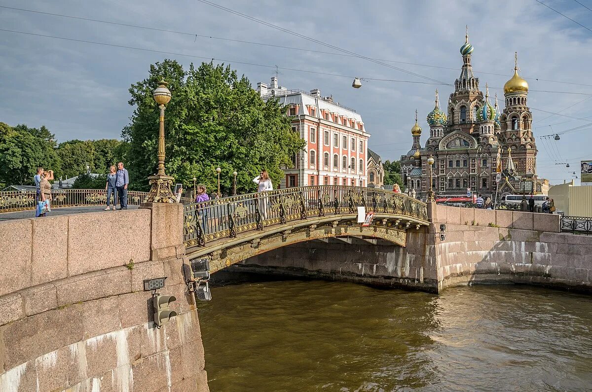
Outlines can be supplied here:
M160 108L158 127L158 171L156 175L149 176L150 192L146 197L146 203L176 203L176 198L170 189L174 178L165 174L165 105L170 101L170 91L166 86L169 83L160 79L159 86L153 93L154 100Z

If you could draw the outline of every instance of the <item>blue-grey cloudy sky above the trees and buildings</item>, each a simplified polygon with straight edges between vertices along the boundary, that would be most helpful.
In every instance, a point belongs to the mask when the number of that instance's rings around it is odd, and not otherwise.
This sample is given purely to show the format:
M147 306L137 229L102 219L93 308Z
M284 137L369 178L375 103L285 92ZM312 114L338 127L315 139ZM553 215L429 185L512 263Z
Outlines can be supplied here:
M475 76L482 89L488 83L492 97L497 92L502 107L518 52L520 74L530 86L538 175L561 184L574 171L580 176L581 159L592 159L592 11L585 8L592 9L592 1L578 1L541 0L562 16L536 0L0 0L2 7L37 11L0 8L0 28L12 30L0 31L0 121L45 125L58 142L119 139L134 109L128 89L147 77L150 64L215 59L230 63L253 87L269 84L278 66L279 85L333 95L361 114L372 150L383 160L399 159L412 144L415 110L424 144L435 89L441 102L448 101L468 25ZM362 88L351 87L353 76L367 79ZM540 137L580 126L558 141Z

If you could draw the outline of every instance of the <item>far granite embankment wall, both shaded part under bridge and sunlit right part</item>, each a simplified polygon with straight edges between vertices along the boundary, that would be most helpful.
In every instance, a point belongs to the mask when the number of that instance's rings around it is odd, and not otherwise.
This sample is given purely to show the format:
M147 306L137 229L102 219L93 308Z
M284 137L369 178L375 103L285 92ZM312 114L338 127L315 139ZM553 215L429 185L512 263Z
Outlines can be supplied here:
M472 282L592 290L592 237L559 233L558 215L430 207L433 224L409 230L406 248L315 241L263 253L232 269L432 292ZM444 241L435 234L442 223Z

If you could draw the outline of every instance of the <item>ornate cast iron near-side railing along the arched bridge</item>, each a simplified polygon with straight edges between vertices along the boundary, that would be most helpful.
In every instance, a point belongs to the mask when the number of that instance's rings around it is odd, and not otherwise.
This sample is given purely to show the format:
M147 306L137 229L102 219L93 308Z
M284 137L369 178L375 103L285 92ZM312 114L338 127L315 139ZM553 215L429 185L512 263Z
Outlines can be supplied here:
M425 203L384 189L340 185L285 188L186 204L185 246L205 246L223 237L289 221L356 214L357 207L427 223Z

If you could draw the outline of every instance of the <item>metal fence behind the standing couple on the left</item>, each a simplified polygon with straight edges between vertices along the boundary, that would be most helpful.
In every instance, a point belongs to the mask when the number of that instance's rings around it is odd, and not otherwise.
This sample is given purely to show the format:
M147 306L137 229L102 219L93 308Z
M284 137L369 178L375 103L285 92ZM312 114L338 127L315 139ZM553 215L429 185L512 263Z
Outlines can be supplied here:
M144 203L148 192L127 192L127 204L140 205ZM9 191L0 192L0 213L13 211L34 210L35 191ZM111 203L113 204L113 197ZM193 200L182 197L181 203L191 203ZM105 205L107 204L107 191L105 189L52 189L52 208L76 207L80 205Z

